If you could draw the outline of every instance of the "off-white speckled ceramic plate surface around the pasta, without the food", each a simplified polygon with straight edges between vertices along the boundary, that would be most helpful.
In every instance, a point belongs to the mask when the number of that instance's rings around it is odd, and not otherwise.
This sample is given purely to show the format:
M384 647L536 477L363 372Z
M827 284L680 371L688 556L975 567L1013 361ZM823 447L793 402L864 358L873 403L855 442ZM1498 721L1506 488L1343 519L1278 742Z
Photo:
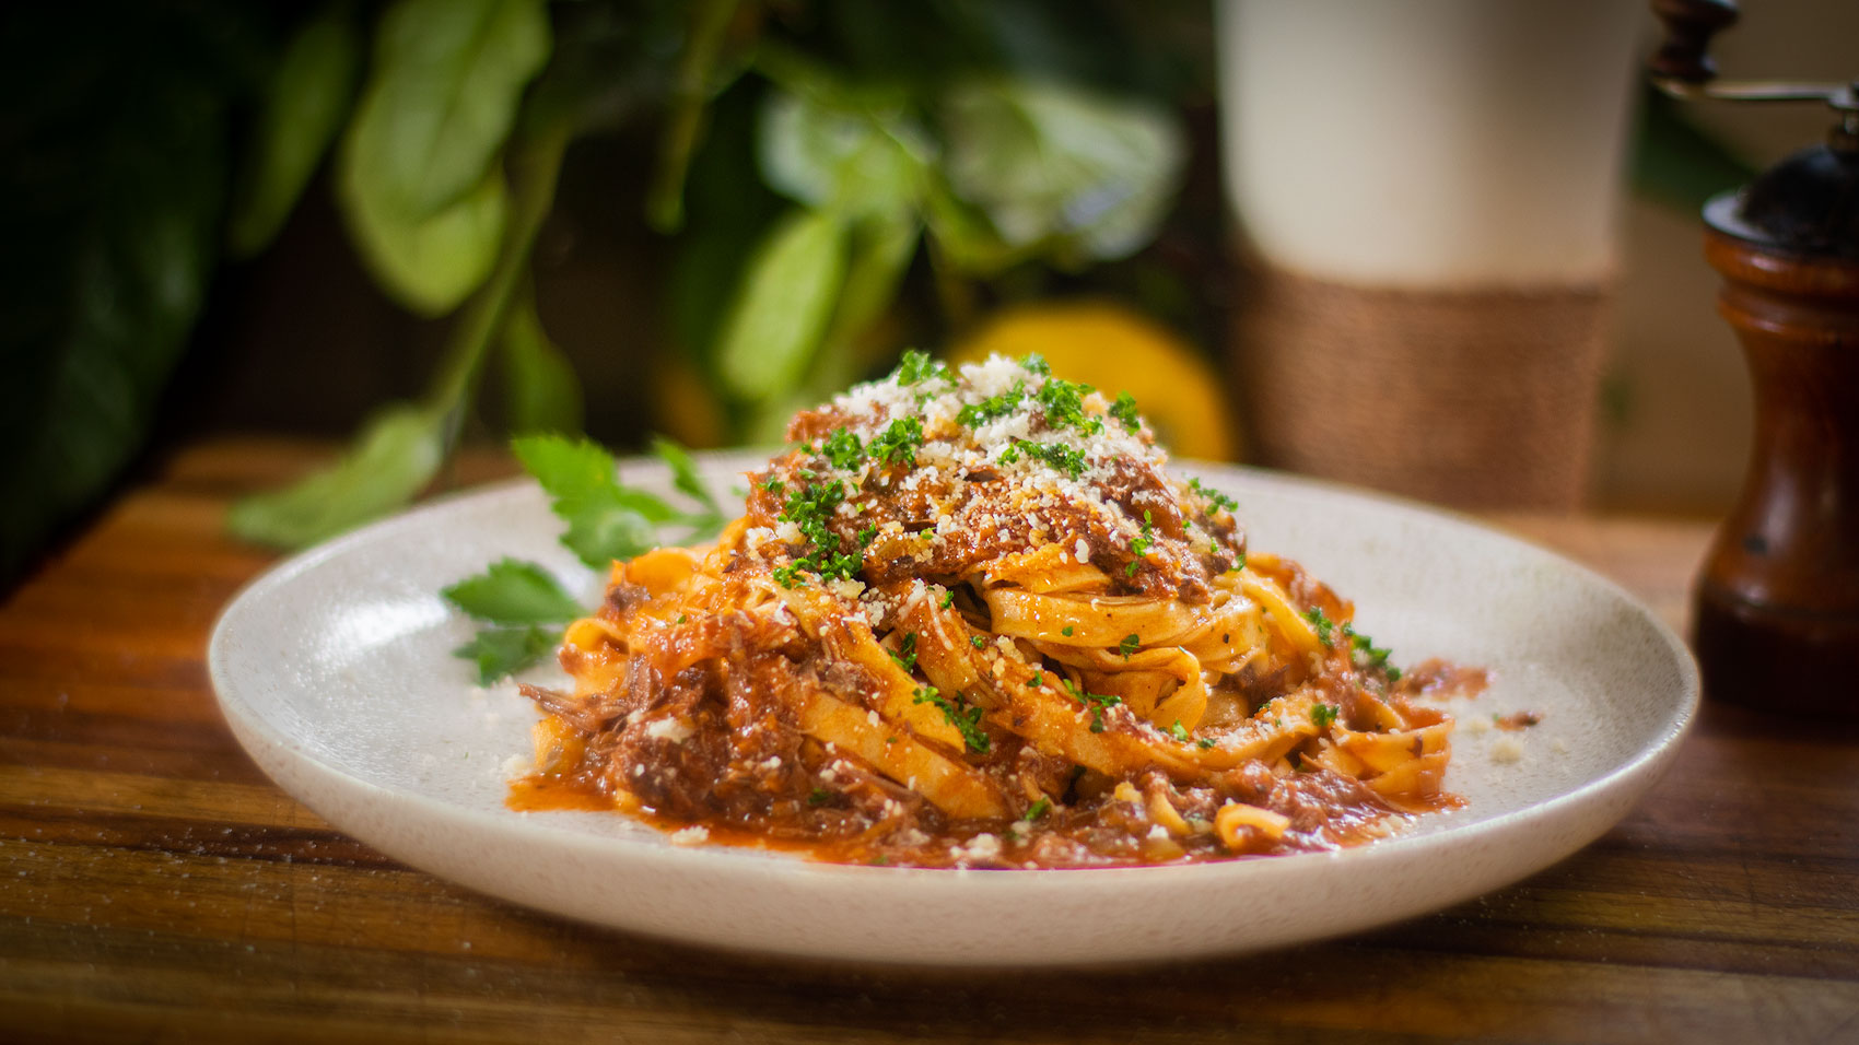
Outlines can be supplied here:
M758 459L757 459L758 461ZM747 457L708 457L718 489ZM1338 853L1104 870L837 866L673 846L610 813L513 813L506 764L535 720L450 655L470 623L439 589L532 558L593 597L532 483L409 511L312 549L221 615L214 688L245 749L336 827L413 866L530 907L699 945L933 965L1188 958L1394 922L1515 881L1615 824L1697 707L1684 645L1608 580L1411 504L1186 465L1240 500L1249 543L1357 604L1396 660L1487 666L1459 707L1448 788L1467 807ZM649 463L628 482L664 489ZM1541 725L1470 725L1534 710ZM1521 736L1521 759L1513 738Z

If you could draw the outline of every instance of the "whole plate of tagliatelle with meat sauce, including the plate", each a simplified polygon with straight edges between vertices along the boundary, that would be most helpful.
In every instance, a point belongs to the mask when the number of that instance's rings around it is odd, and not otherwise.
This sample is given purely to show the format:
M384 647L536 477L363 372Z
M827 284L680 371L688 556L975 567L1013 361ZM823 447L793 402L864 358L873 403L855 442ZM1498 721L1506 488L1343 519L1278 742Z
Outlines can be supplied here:
M1128 396L1037 357L913 353L771 454L519 456L541 485L281 563L208 662L240 742L336 827L621 930L928 965L1357 932L1599 837L1697 703L1608 580L1171 461ZM667 521L718 532L639 532ZM543 664L491 681L513 651Z

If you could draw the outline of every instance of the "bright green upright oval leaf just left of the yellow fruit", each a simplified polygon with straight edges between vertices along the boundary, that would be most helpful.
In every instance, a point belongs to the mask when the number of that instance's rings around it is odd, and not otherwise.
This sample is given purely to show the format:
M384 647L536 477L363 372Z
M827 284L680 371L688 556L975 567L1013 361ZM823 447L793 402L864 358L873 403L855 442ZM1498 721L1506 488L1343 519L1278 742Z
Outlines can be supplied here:
M846 279L846 225L833 210L796 210L760 242L723 324L716 364L731 394L758 402L807 372Z

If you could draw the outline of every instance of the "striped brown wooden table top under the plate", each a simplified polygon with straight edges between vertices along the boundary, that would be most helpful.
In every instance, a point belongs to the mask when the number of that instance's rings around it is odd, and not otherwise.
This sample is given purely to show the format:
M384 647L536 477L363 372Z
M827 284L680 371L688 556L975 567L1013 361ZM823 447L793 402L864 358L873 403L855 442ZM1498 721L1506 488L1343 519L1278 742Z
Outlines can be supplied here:
M180 454L0 608L0 1039L1859 1041L1859 734L1720 707L1653 796L1562 865L1225 961L796 965L476 896L271 787L208 690L214 615L271 562L225 539L221 511L322 452ZM1708 537L1498 522L1675 627Z

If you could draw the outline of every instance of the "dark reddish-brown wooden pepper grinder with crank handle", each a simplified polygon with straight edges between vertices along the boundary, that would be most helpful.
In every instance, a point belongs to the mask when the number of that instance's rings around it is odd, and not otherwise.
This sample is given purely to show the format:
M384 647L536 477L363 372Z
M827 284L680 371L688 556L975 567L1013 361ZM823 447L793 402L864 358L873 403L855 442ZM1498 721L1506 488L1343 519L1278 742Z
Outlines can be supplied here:
M1705 205L1718 311L1755 383L1755 448L1695 595L1705 695L1859 718L1859 82L1721 84L1705 56L1736 7L1653 0L1655 84L1681 99L1820 100L1837 123Z

